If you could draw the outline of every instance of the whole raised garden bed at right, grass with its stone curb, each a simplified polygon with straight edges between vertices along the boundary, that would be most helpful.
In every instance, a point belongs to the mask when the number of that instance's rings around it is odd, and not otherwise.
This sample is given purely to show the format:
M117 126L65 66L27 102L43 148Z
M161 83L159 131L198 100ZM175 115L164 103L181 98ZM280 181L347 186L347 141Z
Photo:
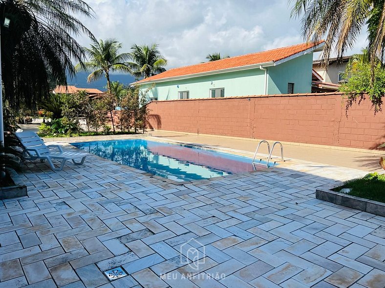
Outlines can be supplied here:
M350 192L342 192L343 189ZM385 175L368 174L342 185L316 190L316 198L353 209L385 216Z

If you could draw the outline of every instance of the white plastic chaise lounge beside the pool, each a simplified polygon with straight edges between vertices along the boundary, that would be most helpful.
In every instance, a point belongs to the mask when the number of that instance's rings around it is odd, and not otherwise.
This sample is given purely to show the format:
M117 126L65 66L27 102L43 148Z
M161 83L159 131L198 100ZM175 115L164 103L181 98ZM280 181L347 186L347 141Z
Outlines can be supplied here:
M79 152L64 152L60 145L45 145L42 138L35 132L16 132L16 136L19 138L21 144L24 147L23 157L26 160L40 159L41 162L47 160L51 169L54 171L61 171L64 168L65 161L72 160L76 165L82 165L86 160L86 153ZM59 152L54 152L51 148L56 148ZM61 160L59 168L55 167L52 163L52 159ZM80 162L76 162L75 159L79 159Z

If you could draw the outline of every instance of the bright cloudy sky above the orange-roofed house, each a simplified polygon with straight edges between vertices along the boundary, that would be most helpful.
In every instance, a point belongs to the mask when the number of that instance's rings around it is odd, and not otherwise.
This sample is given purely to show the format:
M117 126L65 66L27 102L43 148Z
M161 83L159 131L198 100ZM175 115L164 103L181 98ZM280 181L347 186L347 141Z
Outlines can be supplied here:
M213 52L237 56L303 42L299 20L290 19L289 0L86 2L96 18L84 23L96 38L117 38L126 51L134 43L158 43L168 69L205 61ZM364 45L363 36L351 53Z

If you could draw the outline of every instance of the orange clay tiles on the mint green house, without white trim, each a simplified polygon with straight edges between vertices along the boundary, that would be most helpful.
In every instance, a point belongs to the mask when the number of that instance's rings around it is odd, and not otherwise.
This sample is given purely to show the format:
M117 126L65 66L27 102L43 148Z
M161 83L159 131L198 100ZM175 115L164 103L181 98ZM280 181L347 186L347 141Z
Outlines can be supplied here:
M205 62L190 66L184 66L179 68L174 68L167 70L166 72L160 73L155 76L148 77L146 79L142 79L137 81L136 83L143 83L152 80L159 80L164 78L171 77L181 77L187 75L194 75L199 73L218 71L229 68L236 68L248 65L257 65L268 62L276 62L282 60L284 58L288 58L300 52L304 52L307 49L313 48L315 46L320 45L323 41L318 43L302 43L288 47L277 48L273 50L247 54L242 56L235 56L231 58L224 58L221 60L216 60L212 62Z

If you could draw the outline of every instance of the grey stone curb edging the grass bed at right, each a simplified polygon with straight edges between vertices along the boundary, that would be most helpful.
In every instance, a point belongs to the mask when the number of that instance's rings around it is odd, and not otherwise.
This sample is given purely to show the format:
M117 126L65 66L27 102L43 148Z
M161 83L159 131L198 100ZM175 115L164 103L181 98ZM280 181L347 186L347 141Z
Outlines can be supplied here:
M341 186L334 185L335 187ZM385 203L377 202L361 197L347 195L345 193L331 191L325 187L324 189L316 190L316 198L324 201L328 201L334 204L346 206L360 211L380 215L385 217Z

